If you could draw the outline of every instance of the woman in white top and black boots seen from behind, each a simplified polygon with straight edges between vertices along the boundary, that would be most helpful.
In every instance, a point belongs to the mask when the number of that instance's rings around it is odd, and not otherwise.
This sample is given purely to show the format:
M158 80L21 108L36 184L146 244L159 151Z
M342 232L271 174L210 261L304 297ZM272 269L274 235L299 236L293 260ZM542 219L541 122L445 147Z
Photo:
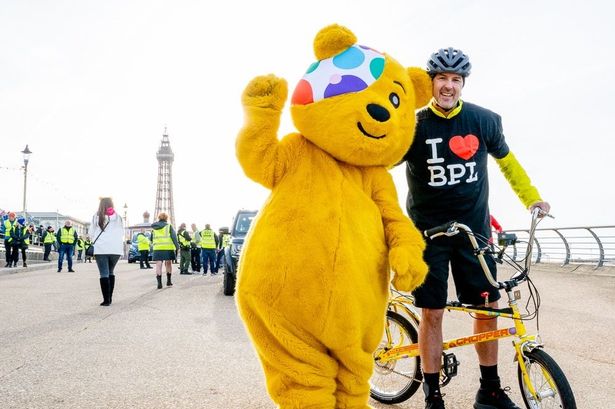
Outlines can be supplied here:
M110 197L102 197L98 211L92 217L89 236L95 241L94 255L100 273L100 290L103 302L100 305L111 305L115 274L113 270L120 256L124 254L124 222L113 208Z

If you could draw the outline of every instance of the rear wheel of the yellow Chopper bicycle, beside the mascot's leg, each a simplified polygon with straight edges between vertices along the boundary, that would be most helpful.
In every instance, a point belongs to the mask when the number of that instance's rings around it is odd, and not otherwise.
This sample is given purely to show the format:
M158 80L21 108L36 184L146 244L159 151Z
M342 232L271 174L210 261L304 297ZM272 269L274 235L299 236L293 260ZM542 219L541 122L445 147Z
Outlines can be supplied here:
M385 325L389 330L391 342L389 342L385 331L374 356L382 350L414 344L418 341L416 331L418 323L412 325L407 318L396 312L387 311ZM421 359L418 356L385 363L376 361L374 362L374 373L369 380L369 394L378 402L400 403L416 392L422 379Z

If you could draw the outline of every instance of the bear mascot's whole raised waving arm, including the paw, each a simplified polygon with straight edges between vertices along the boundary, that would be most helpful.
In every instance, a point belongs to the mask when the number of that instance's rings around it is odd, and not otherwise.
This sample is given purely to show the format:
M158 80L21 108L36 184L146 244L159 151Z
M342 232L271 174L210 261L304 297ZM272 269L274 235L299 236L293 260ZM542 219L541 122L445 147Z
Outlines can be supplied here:
M284 79L266 75L250 81L241 97L245 119L235 144L237 159L249 178L269 189L287 163L277 135L287 95Z

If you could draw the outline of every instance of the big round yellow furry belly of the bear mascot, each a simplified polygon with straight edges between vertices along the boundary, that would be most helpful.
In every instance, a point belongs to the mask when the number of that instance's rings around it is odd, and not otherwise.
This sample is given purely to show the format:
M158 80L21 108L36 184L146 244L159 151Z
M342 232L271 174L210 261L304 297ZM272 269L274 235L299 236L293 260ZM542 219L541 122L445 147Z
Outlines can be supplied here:
M243 249L237 291L322 337L382 319L389 273L380 212L360 170L332 159L316 169L299 167L273 189Z

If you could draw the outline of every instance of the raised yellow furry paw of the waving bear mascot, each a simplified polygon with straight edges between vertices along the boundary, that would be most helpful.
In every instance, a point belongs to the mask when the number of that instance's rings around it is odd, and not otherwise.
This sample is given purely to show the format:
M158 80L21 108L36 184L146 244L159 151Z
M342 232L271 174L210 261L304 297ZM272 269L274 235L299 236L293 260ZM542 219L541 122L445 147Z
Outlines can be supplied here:
M286 80L269 74L258 76L250 81L243 91L241 101L244 106L281 111L287 96Z

